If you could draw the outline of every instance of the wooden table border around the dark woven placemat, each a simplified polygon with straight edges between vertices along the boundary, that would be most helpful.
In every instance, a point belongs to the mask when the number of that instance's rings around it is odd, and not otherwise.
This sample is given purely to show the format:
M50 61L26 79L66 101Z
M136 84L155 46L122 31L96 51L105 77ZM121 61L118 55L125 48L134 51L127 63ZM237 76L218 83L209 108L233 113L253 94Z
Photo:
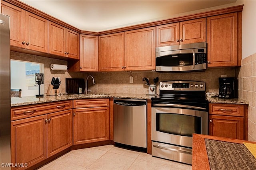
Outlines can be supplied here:
M243 144L243 142L256 144L256 142L209 136L209 135L200 135L200 134L194 133L193 145L192 145L192 148L193 148L192 149L192 170L199 170L199 169L210 170L210 164L208 160L205 139L212 139L217 141L224 141L224 142L231 142L231 143L238 143L238 144Z

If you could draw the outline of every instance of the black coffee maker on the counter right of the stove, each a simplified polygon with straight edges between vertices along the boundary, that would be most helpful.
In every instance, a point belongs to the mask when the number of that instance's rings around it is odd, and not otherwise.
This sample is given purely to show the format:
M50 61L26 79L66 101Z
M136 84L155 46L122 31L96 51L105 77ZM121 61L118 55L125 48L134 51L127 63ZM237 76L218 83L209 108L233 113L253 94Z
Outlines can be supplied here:
M237 98L237 78L235 77L219 77L219 98Z

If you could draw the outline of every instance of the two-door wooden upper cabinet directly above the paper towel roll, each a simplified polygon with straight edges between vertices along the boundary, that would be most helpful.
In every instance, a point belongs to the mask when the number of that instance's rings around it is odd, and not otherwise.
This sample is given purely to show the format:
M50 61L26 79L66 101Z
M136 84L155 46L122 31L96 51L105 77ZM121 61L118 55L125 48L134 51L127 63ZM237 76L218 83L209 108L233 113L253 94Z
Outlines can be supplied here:
M49 54L79 59L79 33L49 21Z

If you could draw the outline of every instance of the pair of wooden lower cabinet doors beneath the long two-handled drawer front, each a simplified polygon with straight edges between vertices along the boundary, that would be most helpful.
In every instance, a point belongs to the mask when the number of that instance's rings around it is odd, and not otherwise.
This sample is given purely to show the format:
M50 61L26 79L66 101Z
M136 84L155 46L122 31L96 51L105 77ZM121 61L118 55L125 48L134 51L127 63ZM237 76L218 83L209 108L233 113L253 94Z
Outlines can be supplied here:
M72 109L11 122L12 163L23 170L72 146Z

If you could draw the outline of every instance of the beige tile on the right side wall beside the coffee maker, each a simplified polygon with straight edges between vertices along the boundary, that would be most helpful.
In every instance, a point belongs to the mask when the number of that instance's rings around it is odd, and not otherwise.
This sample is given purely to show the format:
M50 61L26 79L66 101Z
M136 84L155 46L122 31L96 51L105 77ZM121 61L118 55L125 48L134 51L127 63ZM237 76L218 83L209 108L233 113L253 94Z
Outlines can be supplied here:
M256 53L242 60L238 72L238 98L249 102L248 141L256 141Z

